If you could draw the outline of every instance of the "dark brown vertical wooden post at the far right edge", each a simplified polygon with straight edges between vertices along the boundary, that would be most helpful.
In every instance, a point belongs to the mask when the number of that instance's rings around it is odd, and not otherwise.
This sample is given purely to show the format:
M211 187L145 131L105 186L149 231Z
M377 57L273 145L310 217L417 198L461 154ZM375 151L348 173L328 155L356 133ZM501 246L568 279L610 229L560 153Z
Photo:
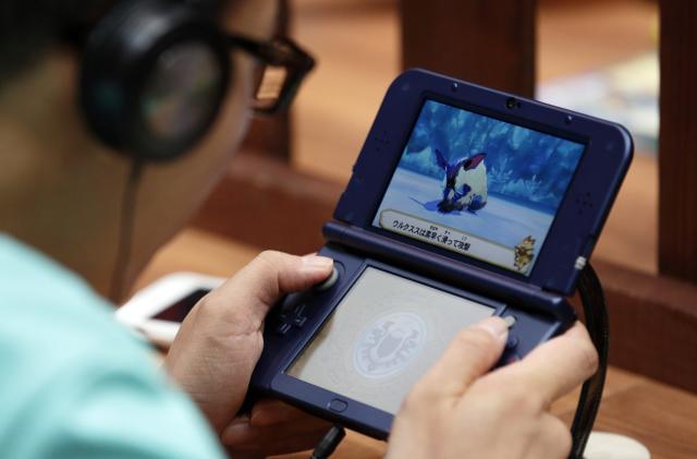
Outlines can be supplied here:
M660 7L659 270L697 282L697 2Z

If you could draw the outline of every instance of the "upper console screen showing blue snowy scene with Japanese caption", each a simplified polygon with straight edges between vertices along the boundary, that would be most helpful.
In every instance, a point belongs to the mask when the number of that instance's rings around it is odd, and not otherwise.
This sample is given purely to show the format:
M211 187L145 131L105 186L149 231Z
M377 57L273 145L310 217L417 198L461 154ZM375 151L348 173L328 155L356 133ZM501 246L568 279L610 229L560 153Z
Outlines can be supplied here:
M584 148L426 100L372 225L528 276Z

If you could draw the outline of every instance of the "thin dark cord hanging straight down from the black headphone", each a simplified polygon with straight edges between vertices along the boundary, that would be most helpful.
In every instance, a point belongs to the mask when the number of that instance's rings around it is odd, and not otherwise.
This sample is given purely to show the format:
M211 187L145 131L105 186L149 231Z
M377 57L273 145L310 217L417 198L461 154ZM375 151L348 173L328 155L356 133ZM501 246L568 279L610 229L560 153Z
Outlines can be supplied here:
M131 251L133 249L133 230L135 219L135 201L137 197L138 184L140 183L140 172L143 172L144 162L134 159L129 171L125 189L123 190L123 200L121 201L121 221L119 226L119 234L117 241L117 259L114 261L113 271L111 273L110 299L119 302L124 293L126 282L126 269L131 259Z

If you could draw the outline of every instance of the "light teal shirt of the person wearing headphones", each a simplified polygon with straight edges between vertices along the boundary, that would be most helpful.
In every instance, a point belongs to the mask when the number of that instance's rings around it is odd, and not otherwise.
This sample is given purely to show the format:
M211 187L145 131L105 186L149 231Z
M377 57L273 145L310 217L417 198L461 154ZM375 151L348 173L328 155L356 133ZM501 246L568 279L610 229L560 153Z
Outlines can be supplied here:
M220 457L201 414L112 307L0 233L0 458Z

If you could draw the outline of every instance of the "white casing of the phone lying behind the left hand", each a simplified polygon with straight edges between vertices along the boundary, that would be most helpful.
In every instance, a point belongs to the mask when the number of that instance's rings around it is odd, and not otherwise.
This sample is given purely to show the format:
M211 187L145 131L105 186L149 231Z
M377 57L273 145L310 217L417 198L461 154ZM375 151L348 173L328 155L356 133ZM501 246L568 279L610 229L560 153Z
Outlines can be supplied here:
M212 290L223 278L198 273L173 273L143 288L117 310L117 319L156 345L169 347L179 331L179 322L154 318L197 290Z

